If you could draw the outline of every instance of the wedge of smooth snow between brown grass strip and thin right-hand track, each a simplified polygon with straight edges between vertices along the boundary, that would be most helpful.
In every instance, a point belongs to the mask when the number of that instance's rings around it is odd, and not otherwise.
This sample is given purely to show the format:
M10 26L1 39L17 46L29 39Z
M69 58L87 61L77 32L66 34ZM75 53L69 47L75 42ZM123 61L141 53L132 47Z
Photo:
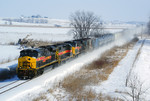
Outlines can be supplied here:
M141 41L139 41L134 48L128 52L126 57L121 60L118 66L115 67L107 81L104 81L100 85L92 86L91 88L95 89L97 93L102 92L106 94L112 94L117 90L120 91L120 89L124 89L127 74L129 73L130 68L132 68L132 64L140 46Z

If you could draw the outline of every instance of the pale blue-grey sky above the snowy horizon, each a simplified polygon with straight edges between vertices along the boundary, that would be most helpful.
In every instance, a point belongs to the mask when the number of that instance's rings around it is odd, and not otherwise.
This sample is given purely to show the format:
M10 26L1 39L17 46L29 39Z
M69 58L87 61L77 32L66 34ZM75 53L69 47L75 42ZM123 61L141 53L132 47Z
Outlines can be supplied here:
M150 0L0 0L0 17L69 19L77 10L94 12L105 21L148 21Z

